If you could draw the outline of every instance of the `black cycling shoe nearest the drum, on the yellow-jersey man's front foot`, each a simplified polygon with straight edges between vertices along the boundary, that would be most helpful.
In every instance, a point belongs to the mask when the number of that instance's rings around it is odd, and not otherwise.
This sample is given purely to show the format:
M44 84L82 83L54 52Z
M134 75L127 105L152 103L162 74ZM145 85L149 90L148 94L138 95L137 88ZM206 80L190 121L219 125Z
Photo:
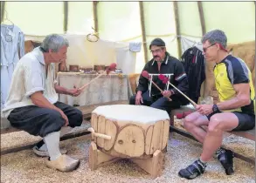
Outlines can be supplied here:
M206 164L197 159L193 164L179 171L178 175L187 180L193 180L204 173Z

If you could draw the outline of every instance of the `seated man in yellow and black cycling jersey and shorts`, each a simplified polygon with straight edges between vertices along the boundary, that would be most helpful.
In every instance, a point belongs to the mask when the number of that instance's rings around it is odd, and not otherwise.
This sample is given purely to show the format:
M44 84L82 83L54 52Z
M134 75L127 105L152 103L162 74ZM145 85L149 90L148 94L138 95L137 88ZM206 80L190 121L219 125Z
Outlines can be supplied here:
M232 174L233 153L220 148L223 132L246 131L255 125L255 92L252 74L246 63L225 50L227 38L222 30L206 33L202 43L206 60L216 62L214 76L220 102L197 105L197 112L184 119L187 131L203 143L200 158L178 173L189 180L204 173L206 163L214 153L224 166L225 173ZM208 125L206 131L201 127L203 125Z

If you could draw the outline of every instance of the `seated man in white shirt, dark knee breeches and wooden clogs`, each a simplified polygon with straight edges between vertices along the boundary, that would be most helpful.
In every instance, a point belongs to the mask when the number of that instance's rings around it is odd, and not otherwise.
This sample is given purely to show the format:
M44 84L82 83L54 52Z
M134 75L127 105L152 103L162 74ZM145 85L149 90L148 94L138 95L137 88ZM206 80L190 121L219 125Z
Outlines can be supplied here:
M67 90L55 80L54 63L66 59L67 47L64 37L52 34L45 37L40 47L24 55L13 72L2 110L13 127L44 138L33 151L39 156L50 156L46 165L63 172L72 171L80 161L62 154L66 151L60 152L59 137L83 121L82 112L58 102L57 93L80 95L80 90Z

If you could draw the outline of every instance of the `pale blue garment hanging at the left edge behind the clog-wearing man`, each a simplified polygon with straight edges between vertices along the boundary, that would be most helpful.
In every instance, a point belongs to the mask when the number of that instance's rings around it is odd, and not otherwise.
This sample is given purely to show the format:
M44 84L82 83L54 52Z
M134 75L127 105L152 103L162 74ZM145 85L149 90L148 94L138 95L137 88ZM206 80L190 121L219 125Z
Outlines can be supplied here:
M9 93L12 73L24 56L24 33L14 24L1 24L1 110Z

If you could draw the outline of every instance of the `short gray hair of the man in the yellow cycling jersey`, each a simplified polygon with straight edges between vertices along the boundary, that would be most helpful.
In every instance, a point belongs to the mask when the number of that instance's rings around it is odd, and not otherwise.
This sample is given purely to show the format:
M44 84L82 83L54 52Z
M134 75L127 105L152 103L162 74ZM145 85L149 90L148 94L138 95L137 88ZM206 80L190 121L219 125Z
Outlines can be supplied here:
M226 48L227 38L225 36L225 32L222 30L211 30L204 34L202 37L202 43L204 44L206 41L209 41L210 44L221 44L224 48Z

